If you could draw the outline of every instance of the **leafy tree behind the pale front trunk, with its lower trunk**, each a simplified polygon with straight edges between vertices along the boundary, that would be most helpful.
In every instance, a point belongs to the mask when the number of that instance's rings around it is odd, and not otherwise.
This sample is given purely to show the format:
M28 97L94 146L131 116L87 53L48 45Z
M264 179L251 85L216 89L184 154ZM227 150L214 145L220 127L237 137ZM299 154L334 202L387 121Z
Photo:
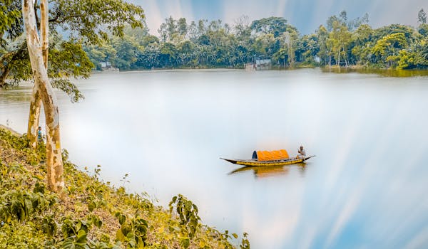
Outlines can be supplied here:
M29 62L29 52L23 34L22 0L0 0L0 88L9 85L19 85L23 80L31 80L32 70ZM36 26L41 22L41 4L34 2ZM108 34L122 37L126 26L143 27L143 9L140 6L128 4L122 0L81 0L49 1L49 40L45 39L44 58L51 85L71 96L76 102L83 98L71 78L88 78L93 64L83 51L82 44L101 45L108 40ZM61 33L67 33L68 41L61 38ZM47 34L47 33L46 33ZM49 64L49 65L48 65ZM35 93L36 94L36 93ZM40 101L34 96L31 104L28 137L31 146L36 147L36 128L39 122Z

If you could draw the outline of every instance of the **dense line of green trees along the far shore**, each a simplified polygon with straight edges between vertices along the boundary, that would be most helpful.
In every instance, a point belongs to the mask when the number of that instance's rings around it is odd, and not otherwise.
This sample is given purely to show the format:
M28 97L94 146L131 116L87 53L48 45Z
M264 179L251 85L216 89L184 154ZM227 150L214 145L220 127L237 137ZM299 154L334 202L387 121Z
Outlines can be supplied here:
M120 70L153 68L243 68L255 58L270 58L276 68L343 66L428 68L428 24L423 9L413 28L391 24L372 28L368 15L349 20L347 12L330 16L315 33L301 35L282 17L231 26L222 21L169 17L153 36L148 28L126 28L102 45L86 46L91 61Z

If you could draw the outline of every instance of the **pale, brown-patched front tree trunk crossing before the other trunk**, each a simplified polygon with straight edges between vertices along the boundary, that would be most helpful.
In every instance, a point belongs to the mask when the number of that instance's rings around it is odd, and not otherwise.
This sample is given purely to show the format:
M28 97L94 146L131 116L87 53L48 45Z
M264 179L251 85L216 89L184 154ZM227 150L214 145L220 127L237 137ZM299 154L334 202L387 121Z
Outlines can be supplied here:
M46 3L46 0L44 0ZM47 8L47 4L46 4ZM59 113L56 95L49 83L48 73L44 65L42 47L36 27L36 14L32 0L24 0L22 15L26 29L26 41L29 49L31 69L34 77L34 91L39 92L44 105L46 118L46 168L48 188L63 195L63 162L59 134ZM48 27L45 27L46 30Z

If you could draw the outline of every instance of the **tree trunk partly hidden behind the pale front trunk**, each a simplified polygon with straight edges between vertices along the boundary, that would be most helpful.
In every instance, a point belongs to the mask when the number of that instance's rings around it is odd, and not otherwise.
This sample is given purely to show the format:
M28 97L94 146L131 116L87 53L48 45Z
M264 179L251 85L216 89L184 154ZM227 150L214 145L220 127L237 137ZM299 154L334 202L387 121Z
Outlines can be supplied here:
M44 67L48 68L48 53L49 53L49 9L46 0L41 0L40 3L40 33L41 33L41 51L43 54ZM40 120L41 98L40 93L37 91L39 87L36 86L37 82L34 81L33 94L30 102L29 124L27 128L27 137L30 141L30 146L34 149L39 142L37 129Z

